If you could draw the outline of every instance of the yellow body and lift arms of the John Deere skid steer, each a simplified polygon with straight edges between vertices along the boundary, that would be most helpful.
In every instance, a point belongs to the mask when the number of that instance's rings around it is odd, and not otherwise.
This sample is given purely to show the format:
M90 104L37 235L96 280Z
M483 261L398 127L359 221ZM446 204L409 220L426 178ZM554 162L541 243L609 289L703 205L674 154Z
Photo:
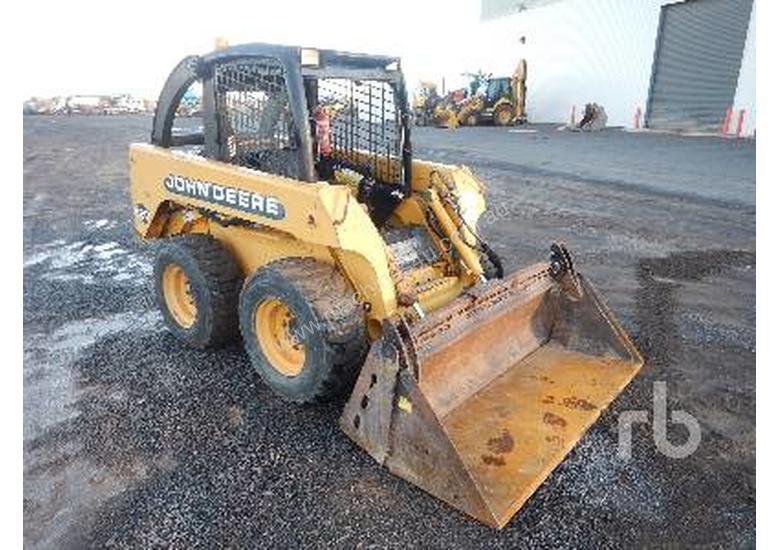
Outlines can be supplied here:
M474 224L485 211L484 186L467 168L414 161L412 173L415 194L396 209L399 225L423 223L422 203L434 200L431 199L436 193L433 188L444 178L462 197L469 197L468 216ZM170 179L172 175L173 180ZM346 185L328 182L301 185L283 176L145 143L133 144L130 148L130 180L136 213L134 224L142 238L200 232L213 234L231 250L246 275L285 257L312 257L338 263L361 301L368 304L368 318L375 323L396 313L399 284L402 288L431 287L430 291L422 293L421 301L423 310L431 311L460 294L464 286L472 285L480 274L475 267L466 275L443 277L441 269L421 265L421 269L409 274L406 281L394 279L382 236ZM241 197L237 192L231 197L235 204L227 200L215 204L212 196L199 194L205 184L220 186L224 189L220 195L233 190L249 193L246 200L250 207L253 196L272 198L275 203L284 205L285 215L274 219L262 210L239 209ZM438 203L437 208L444 211ZM238 217L254 226L225 227L220 224L220 217ZM453 235L451 242L462 240ZM468 253L467 247L460 246ZM473 266L479 264L473 254L471 262ZM446 284L431 285L434 278Z

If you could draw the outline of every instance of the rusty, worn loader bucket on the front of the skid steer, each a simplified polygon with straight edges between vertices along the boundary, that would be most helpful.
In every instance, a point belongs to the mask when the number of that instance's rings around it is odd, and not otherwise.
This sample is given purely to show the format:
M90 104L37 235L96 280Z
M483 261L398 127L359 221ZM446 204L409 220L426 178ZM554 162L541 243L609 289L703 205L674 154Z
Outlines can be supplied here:
M590 283L570 280L578 295L538 264L387 323L343 430L394 474L503 527L642 366Z

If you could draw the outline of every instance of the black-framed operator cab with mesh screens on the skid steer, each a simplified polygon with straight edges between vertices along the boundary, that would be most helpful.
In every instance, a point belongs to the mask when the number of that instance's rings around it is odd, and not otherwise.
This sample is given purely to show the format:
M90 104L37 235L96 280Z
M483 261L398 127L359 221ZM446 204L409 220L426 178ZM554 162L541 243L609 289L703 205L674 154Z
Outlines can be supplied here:
M193 83L202 89L202 128L177 133L174 115ZM347 185L377 226L411 189L398 58L267 44L188 57L160 94L152 143L199 146L213 160Z

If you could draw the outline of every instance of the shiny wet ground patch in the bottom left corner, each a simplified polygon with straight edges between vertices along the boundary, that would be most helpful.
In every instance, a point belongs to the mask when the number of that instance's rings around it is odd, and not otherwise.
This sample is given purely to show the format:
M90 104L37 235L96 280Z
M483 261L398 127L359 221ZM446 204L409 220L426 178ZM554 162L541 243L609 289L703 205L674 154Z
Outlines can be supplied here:
M162 317L155 310L81 319L49 334L25 335L24 441L32 443L26 446L24 460L25 547L84 547L84 522L101 503L146 479L152 469L175 465L167 455L148 463L128 456L119 466L99 464L78 438L56 435L57 426L79 414L76 405L89 392L106 392L110 400L127 399L122 390L80 387L76 362L102 338L161 330ZM54 435L47 440L47 434Z

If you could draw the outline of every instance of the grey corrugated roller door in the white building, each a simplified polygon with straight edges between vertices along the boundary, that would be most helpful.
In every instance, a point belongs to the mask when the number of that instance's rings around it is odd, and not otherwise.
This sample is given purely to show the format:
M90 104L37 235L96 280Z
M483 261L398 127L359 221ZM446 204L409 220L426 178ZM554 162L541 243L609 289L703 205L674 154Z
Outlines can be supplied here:
M753 0L663 6L647 125L717 132L734 101Z

